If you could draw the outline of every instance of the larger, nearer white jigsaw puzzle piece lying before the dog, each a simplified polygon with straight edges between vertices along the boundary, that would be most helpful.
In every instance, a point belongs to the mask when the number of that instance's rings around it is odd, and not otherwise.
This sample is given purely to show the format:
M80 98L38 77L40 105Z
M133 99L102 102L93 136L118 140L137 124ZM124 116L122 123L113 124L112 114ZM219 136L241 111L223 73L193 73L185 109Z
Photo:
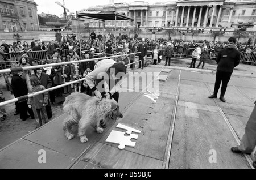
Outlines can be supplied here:
M108 143L120 144L119 149L124 149L125 146L135 147L136 142L132 142L131 139L138 139L137 134L130 134L130 136L125 136L125 132L112 130L106 139Z

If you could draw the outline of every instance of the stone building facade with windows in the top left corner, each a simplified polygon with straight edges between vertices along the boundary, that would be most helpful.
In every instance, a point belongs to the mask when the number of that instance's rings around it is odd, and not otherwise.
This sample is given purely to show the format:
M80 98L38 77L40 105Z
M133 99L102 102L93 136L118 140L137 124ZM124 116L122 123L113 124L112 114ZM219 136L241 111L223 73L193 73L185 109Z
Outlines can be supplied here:
M39 31L34 0L0 0L0 31Z

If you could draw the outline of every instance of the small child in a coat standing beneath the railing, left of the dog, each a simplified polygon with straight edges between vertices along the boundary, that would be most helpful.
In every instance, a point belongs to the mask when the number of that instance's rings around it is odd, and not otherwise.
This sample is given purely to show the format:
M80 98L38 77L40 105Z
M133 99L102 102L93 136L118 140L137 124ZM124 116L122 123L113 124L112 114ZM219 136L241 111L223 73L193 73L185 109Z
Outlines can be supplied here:
M40 85L40 80L35 76L30 77L30 84L32 85L32 93L43 91L46 89L43 85ZM48 122L46 105L48 104L48 92L44 92L40 95L34 96L36 113L38 113L39 122L42 122L44 119L44 123ZM30 98L27 101L28 108L32 108Z

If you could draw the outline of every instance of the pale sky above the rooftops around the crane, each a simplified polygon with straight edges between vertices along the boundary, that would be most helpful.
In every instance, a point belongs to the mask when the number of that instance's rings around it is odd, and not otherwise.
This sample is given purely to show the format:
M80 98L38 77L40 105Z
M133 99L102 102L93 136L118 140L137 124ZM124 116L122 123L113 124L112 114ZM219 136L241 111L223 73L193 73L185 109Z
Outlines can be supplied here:
M60 17L61 14L63 14L63 8L55 1L59 1L61 4L63 4L63 0L34 0L38 4L38 14L44 12L48 14L55 14ZM138 0L115 0L115 3L119 2L127 2L131 3ZM154 2L170 2L167 0L144 0L144 2L154 3ZM70 12L73 12L76 14L76 11L80 11L84 8L88 8L91 6L96 5L105 5L108 4L109 0L96 0L96 1L90 1L90 0L65 0L66 8L70 10ZM68 13L68 12L67 12ZM69 14L69 13L68 13Z

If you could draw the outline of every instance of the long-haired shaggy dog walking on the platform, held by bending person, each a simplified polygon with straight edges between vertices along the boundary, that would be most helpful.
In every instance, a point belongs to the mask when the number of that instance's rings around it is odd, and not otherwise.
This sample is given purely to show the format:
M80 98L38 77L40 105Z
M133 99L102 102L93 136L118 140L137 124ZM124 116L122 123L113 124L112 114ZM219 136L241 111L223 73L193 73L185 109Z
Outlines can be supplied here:
M85 132L90 125L97 133L102 133L103 129L99 127L101 119L106 122L109 119L116 120L117 117L123 117L114 99L99 100L97 97L90 97L83 93L71 93L63 105L64 112L68 114L63 127L65 136L68 140L74 138L75 135L72 134L71 129L73 125L78 125L78 136L82 143L88 142Z

